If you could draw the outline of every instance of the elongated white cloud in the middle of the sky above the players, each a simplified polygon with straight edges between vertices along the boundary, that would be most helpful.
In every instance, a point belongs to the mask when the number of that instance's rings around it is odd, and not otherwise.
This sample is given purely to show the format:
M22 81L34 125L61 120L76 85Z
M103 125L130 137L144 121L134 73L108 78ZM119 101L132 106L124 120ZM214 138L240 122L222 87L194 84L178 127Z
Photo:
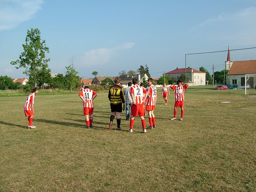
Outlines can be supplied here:
M99 48L84 52L82 56L83 63L85 65L100 65L106 64L111 58L116 56L120 51L125 49L131 49L134 47L134 43L125 43L113 48Z

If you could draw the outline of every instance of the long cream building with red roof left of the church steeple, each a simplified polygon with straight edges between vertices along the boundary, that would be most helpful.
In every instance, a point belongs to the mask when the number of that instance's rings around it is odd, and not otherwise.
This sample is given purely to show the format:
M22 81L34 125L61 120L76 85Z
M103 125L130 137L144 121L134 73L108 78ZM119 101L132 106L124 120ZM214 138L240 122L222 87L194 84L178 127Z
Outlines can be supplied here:
M193 83L194 86L206 84L206 73L190 67L180 69L176 68L175 70L165 73L165 75L179 79L182 73L189 77L189 80Z

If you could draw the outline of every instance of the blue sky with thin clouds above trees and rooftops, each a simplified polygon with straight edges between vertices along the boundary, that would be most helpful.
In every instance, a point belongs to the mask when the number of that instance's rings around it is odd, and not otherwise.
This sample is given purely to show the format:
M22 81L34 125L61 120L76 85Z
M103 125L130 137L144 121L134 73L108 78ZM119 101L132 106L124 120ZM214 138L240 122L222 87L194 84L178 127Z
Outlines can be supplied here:
M79 76L152 77L185 67L185 54L256 47L256 0L0 0L0 76L23 78L16 61L38 28L52 73L74 59Z

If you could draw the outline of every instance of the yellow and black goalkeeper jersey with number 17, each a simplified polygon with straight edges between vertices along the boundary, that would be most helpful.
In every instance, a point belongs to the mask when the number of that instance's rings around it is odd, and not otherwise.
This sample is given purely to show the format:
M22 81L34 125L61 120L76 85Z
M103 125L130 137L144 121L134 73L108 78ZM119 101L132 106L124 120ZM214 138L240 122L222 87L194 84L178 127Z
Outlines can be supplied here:
M122 103L125 103L125 95L119 84L114 84L109 88L108 99L110 100L110 105L122 105Z

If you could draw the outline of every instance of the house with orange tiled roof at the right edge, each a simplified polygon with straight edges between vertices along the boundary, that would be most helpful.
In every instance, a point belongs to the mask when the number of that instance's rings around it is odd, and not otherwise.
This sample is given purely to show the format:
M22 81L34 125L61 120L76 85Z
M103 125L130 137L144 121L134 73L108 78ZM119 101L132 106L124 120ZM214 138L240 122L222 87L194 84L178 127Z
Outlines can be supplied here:
M256 60L249 61L232 61L229 72L227 73L227 82L230 84L245 84L245 74L256 74ZM250 87L256 85L255 76L249 77L247 84L250 84Z

